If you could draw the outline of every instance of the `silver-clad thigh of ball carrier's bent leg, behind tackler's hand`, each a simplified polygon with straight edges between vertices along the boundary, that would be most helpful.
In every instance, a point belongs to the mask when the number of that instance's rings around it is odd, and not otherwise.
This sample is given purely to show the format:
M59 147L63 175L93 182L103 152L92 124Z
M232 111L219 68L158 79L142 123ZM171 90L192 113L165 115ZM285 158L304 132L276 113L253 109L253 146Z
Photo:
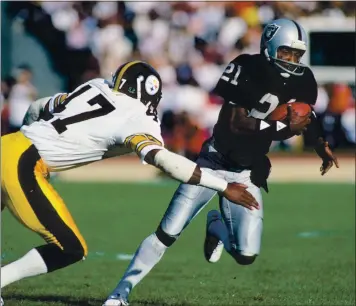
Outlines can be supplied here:
M249 210L220 197L220 210L230 236L230 247L244 256L260 252L263 229L263 202L258 187L247 184L248 191L256 198L259 210Z

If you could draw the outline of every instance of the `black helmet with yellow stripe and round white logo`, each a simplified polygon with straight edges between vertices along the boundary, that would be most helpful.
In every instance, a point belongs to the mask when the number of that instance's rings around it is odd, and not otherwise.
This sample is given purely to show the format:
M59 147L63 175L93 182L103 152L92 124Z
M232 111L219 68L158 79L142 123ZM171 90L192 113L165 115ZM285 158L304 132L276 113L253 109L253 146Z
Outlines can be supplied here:
M112 76L112 89L143 104L157 107L162 98L162 81L158 72L149 64L131 61L121 65Z

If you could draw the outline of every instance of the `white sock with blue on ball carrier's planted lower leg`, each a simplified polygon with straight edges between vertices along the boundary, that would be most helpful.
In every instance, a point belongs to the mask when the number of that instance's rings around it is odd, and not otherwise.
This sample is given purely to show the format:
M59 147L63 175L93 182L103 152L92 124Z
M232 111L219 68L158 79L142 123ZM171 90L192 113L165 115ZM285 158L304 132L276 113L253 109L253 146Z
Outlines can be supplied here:
M155 233L148 236L137 249L123 278L112 292L127 297L151 269L160 261L167 247L158 240Z

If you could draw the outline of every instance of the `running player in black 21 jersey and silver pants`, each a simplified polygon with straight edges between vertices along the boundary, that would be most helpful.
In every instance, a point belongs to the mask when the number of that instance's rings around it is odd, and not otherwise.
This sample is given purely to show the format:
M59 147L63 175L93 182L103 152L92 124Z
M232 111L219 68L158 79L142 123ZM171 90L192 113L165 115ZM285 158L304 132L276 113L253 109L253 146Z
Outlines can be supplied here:
M215 88L224 104L197 164L229 182L245 184L260 209L251 211L219 197L220 212L212 210L207 216L204 255L208 262L217 262L224 248L241 265L252 264L259 254L263 219L260 188L268 191L270 162L266 154L272 140L309 133L322 159L321 174L334 163L338 167L322 138L315 113L301 118L289 108L282 129L277 121L266 119L281 104L300 101L314 105L317 84L312 71L300 62L306 49L306 33L298 23L275 20L263 31L260 54L243 54L232 60ZM104 306L128 305L132 288L215 195L205 187L181 184L157 230L142 242Z

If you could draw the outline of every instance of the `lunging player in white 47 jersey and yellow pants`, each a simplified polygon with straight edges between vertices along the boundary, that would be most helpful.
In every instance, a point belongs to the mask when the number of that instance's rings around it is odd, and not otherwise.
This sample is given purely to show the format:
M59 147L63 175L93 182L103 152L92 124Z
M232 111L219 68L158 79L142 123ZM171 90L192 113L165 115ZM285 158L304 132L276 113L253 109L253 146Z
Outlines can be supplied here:
M84 238L47 180L51 171L136 152L144 163L180 182L211 188L258 209L247 186L227 183L164 148L156 110L161 95L159 74L144 62L128 62L111 82L94 79L68 95L36 101L21 130L1 137L2 204L47 242L2 267L1 288L87 255Z

